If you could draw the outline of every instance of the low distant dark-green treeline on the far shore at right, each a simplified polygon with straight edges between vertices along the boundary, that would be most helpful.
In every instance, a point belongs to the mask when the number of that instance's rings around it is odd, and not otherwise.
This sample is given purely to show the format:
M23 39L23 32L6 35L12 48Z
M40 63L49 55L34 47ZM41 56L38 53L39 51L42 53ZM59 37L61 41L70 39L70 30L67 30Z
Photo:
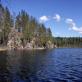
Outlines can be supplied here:
M56 37L54 38L54 44L57 47L82 47L81 37Z

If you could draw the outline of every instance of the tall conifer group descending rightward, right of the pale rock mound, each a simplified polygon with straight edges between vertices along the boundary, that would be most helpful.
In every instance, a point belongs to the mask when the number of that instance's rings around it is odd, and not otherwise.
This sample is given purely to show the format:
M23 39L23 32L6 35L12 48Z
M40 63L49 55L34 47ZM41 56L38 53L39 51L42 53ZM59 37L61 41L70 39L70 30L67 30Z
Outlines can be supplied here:
M16 17L16 28L22 29L23 39L31 41L34 37L38 38L39 44L44 45L51 40L52 33L50 28L46 28L44 24L40 24L37 20L29 16L25 11L21 11ZM38 44L37 43L37 44Z

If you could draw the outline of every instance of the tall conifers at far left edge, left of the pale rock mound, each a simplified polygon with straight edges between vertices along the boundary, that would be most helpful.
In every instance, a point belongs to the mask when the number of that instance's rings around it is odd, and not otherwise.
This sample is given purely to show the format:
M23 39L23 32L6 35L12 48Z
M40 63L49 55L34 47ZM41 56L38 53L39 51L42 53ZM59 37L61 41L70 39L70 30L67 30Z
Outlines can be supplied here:
M0 42L6 44L12 26L12 17L8 8L0 4Z

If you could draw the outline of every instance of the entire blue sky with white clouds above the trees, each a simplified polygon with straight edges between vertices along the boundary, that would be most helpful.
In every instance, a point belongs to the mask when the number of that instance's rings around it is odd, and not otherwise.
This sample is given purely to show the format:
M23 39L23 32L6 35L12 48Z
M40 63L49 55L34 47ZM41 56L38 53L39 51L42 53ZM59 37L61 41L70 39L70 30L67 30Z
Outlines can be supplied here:
M50 27L55 37L82 37L82 0L1 0L11 13L22 9Z

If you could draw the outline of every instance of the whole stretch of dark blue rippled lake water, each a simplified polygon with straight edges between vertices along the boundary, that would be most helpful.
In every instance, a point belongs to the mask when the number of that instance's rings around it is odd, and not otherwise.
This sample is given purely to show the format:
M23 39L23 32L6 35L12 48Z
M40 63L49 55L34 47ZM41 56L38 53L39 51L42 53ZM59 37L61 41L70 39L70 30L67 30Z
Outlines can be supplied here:
M0 52L0 82L82 82L82 49Z

